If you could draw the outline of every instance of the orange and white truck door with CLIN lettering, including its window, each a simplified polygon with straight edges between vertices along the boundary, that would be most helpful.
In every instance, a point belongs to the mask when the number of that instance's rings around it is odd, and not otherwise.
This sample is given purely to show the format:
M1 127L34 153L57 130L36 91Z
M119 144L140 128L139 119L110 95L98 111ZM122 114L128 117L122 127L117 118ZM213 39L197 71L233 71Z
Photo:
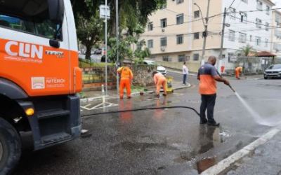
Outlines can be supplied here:
M31 97L69 94L66 18L60 24L51 22L48 0L0 3L0 77L12 80Z

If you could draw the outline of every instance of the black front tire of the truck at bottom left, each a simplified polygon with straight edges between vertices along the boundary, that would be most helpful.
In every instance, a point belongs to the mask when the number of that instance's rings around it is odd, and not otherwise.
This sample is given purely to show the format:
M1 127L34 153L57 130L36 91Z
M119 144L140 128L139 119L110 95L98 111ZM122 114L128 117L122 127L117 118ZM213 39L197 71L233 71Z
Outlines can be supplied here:
M11 174L21 154L21 139L15 128L0 118L0 174Z

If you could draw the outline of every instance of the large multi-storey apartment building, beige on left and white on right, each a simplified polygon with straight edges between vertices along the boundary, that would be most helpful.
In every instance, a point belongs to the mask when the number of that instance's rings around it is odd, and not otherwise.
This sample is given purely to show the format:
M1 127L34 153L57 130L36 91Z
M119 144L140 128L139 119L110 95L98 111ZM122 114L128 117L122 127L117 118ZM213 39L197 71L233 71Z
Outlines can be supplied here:
M188 61L196 71L202 57L202 16L207 16L207 4L207 0L167 0L166 7L152 13L141 36L150 48L152 59L169 66ZM247 44L258 51L270 51L273 19L270 9L274 5L270 0L211 0L204 60L209 55L219 56L225 8L228 13L223 40L224 66L233 66L237 50Z

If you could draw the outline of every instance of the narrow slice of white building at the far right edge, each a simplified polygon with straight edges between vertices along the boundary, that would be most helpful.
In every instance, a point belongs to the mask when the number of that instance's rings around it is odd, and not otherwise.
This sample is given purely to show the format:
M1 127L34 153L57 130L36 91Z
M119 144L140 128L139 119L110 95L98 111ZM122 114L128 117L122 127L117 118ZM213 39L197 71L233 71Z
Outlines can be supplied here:
M271 36L271 52L281 57L281 12L273 11L273 22L272 22L272 36Z

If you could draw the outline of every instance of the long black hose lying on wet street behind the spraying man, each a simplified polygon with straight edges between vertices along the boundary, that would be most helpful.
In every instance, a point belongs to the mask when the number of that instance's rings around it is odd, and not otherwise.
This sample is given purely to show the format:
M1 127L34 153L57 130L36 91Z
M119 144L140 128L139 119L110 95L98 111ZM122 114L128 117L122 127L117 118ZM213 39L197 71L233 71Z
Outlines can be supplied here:
M89 116L96 116L96 115L103 115L103 114L110 114L110 113L126 113L126 112L133 112L133 111L144 111L144 110L155 110L155 109L191 109L194 111L199 117L200 113L196 111L196 109L188 106L163 106L163 107L152 107L152 108L142 108L142 109L127 109L127 110L121 110L121 111L109 111L109 112L103 112L103 113L92 113L88 115L81 116L83 118L87 118Z

